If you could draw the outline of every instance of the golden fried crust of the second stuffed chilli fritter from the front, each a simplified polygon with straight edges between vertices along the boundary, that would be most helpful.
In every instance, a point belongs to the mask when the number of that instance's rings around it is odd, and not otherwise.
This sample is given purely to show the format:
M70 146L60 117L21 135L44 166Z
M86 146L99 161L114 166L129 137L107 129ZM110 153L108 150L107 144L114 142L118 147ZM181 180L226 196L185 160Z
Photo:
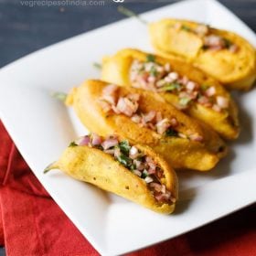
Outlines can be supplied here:
M72 105L78 114L81 123L89 130L101 135L112 133L121 138L127 138L133 144L147 144L155 149L156 153L165 156L165 160L174 168L189 168L207 171L214 167L221 157L226 155L226 144L206 125L197 123L183 112L179 112L170 104L166 104L162 97L151 92L119 87L119 95L139 93L140 107L143 112L152 110L164 113L166 118L175 117L180 133L197 133L204 138L199 143L178 137L161 136L154 131L140 127L133 123L131 118L123 114L110 114L102 112L99 104L102 89L108 83L100 80L87 80L79 88L73 89L67 99L67 104Z

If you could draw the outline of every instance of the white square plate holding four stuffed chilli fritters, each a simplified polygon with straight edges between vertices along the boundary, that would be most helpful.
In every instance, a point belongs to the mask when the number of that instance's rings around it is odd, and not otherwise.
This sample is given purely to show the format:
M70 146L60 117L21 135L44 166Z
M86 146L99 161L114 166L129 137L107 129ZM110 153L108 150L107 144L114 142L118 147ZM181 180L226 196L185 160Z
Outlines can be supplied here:
M249 27L215 1L168 5L142 17L183 17L238 32L256 47ZM147 29L126 19L39 50L0 71L0 111L5 127L37 178L81 233L103 255L133 251L202 226L255 201L256 91L240 93L242 133L229 156L208 173L180 172L176 212L162 216L81 183L59 171L43 175L75 137L85 133L77 118L50 97L99 77L92 67L125 47L152 50Z

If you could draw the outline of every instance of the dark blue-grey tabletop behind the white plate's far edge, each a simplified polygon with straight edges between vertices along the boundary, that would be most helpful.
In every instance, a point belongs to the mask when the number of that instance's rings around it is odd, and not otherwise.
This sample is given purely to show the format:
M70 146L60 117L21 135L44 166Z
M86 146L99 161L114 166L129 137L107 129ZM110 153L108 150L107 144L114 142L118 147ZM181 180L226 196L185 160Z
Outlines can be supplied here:
M19 0L0 0L0 68L39 48L125 18L117 12L118 4L103 1L101 6L29 7ZM178 1L124 0L122 5L139 14L174 2ZM256 31L256 0L220 2ZM0 249L0 255L4 254Z

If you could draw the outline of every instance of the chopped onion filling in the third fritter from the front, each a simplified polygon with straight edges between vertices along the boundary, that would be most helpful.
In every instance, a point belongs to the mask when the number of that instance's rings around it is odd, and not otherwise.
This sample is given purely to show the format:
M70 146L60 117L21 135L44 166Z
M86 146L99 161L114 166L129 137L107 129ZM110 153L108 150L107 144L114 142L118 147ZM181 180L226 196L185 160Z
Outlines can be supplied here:
M178 96L177 108L187 109L191 102L197 102L216 112L229 108L229 99L217 95L214 86L199 85L196 81L188 80L186 76L178 74L168 65L134 59L130 69L130 80L133 87L149 91L171 92ZM152 71L154 70L154 72ZM154 79L153 79L154 78Z

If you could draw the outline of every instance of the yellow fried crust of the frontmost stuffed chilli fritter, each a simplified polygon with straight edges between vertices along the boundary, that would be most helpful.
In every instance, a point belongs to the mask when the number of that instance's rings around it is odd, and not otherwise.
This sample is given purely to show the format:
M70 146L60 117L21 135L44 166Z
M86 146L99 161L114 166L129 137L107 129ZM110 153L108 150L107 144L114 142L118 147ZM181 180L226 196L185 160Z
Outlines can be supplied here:
M165 174L164 185L172 193L172 197L177 199L178 184L175 171L149 147L135 146L151 156L161 167ZM158 203L142 178L134 175L111 155L99 149L88 146L68 147L59 160L48 169L55 168L75 179L101 187L158 213L170 214L175 209L175 203Z

